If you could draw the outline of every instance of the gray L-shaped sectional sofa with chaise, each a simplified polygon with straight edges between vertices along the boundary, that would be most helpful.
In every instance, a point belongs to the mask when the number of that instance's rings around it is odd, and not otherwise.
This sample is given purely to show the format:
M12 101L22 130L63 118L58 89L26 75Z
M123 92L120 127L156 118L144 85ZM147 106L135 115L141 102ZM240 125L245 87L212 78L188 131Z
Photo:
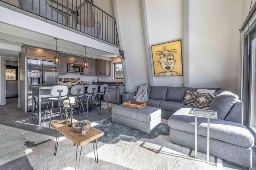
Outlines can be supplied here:
M148 86L147 106L162 110L161 117L168 119L170 141L194 149L195 117L188 112L195 106L183 104L189 90L216 90L209 109L216 110L218 119L210 119L210 155L243 167L252 166L254 137L243 123L243 103L238 96L220 88L187 88ZM136 93L123 94L122 102L135 101ZM198 151L207 151L207 118L198 117Z

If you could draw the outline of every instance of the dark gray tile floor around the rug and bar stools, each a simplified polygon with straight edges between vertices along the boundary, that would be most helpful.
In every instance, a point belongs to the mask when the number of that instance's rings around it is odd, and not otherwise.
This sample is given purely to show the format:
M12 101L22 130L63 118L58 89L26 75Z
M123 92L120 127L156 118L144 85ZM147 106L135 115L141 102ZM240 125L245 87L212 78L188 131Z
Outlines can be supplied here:
M24 151L56 138L56 131L49 128L49 120L38 126L38 119L32 120L32 112L24 113L17 108L18 98L7 98L6 105L0 106L0 170L32 170ZM86 107L85 107L86 108ZM97 109L88 112L90 121L111 117L111 109ZM74 112L74 119L86 119L84 113ZM55 121L60 120L56 117ZM164 122L166 120L163 119ZM250 170L256 170L256 156L253 154ZM242 168L223 162L224 170L241 170Z

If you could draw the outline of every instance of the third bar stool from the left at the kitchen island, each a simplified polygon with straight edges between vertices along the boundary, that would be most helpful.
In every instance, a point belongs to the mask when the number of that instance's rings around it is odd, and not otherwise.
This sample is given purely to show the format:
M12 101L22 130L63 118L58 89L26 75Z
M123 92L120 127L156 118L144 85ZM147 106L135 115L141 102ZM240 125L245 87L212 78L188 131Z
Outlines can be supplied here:
M97 106L96 100L95 100L95 96L97 95L97 92L98 92L98 86L97 85L90 85L87 88L87 93L84 94L84 96L87 97L87 117L88 117L88 101L89 101L88 99L90 99L91 111L92 111L93 104L95 103L95 105L97 107L97 110L98 110L98 113L100 115L100 111L98 109L98 106Z

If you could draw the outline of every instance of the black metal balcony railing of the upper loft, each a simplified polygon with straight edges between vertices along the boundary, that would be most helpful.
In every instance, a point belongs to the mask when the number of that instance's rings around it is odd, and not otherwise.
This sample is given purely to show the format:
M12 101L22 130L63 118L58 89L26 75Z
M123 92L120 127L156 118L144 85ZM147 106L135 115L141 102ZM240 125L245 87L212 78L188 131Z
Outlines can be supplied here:
M0 0L119 46L116 19L90 0Z

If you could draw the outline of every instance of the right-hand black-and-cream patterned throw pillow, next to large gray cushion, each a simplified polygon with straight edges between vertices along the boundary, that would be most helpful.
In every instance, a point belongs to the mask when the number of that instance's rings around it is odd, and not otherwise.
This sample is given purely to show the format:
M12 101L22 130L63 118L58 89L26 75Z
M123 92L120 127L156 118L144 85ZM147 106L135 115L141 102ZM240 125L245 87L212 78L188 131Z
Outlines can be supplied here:
M204 93L201 92L198 94L196 101L194 102L195 107L199 107L201 109L208 109L212 99L216 96L213 93Z

